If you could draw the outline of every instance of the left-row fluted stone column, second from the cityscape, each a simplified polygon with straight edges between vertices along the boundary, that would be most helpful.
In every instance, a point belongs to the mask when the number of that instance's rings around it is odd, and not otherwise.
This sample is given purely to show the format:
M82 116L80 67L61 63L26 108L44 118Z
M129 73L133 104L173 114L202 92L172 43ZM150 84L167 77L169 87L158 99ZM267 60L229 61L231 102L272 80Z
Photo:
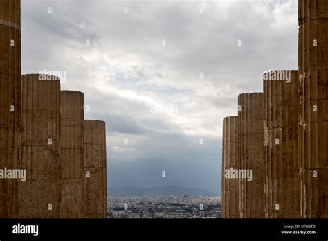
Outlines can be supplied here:
M83 216L84 94L61 91L60 217Z

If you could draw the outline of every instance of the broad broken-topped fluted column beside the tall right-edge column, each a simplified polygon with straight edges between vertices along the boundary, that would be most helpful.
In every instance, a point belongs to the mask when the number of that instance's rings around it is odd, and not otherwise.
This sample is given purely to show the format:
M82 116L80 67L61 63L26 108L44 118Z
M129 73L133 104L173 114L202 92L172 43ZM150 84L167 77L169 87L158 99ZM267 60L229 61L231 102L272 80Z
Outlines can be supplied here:
M277 72L277 71L276 71ZM300 217L298 71L290 80L264 80L266 217Z

